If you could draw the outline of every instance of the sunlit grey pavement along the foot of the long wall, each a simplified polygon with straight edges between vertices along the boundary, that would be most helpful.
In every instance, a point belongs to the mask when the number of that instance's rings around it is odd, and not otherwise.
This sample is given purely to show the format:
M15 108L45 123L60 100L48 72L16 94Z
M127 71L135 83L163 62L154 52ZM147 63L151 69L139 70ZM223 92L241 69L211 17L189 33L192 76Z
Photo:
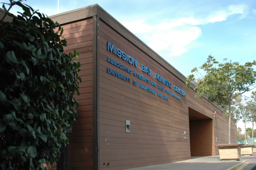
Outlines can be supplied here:
M255 168L255 169L253 169ZM147 167L131 168L128 170L256 170L256 154L241 156L239 161L222 161L219 156L194 156L186 161Z

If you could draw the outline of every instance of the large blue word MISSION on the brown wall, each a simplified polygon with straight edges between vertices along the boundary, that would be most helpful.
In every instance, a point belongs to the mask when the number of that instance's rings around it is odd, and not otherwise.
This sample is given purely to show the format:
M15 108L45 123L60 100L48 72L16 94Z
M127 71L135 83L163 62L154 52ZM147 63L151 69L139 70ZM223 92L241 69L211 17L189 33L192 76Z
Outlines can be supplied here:
M131 65L134 65L135 67L137 67L137 60L132 58L130 55L121 51L121 49L116 48L116 46L114 46L113 44L111 45L110 42L108 42L107 46L108 46L108 51L113 52L113 54L117 55L119 58L122 58L124 61L130 63Z

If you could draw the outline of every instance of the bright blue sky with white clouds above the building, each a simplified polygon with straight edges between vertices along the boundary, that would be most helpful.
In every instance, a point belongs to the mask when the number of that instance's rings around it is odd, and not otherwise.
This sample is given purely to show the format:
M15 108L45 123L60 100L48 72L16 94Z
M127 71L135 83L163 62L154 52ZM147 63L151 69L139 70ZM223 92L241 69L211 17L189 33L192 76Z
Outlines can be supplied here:
M256 0L59 0L59 10L58 0L23 3L48 16L97 3L185 76L210 54L256 59Z

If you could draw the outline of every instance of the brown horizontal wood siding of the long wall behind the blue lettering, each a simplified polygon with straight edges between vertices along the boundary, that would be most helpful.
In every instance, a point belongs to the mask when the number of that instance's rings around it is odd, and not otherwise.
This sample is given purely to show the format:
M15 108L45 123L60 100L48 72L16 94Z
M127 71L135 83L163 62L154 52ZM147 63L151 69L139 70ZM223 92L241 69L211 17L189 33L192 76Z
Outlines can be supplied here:
M222 123L227 122L221 110L209 103L206 98L196 99L192 88L188 89L172 72L102 20L99 22L99 30L100 168L122 170L189 159L189 107L212 119L204 122L207 139L202 139L202 148L204 155L215 155L214 138L218 134L218 129L213 113L216 110L216 117L221 117ZM107 42L135 58L137 67L108 51ZM128 67L132 74L109 63L108 58ZM141 70L141 63L152 70L151 75ZM109 74L108 68L130 78L131 82ZM180 96L181 101L135 77L134 72ZM172 88L157 81L154 78L155 73L172 82ZM133 85L133 81L137 81L138 85ZM139 84L166 95L169 101L145 91ZM174 91L174 85L184 90L186 96ZM126 120L131 121L131 133L125 133ZM186 139L183 136L184 131ZM211 136L207 135L208 131L211 132Z

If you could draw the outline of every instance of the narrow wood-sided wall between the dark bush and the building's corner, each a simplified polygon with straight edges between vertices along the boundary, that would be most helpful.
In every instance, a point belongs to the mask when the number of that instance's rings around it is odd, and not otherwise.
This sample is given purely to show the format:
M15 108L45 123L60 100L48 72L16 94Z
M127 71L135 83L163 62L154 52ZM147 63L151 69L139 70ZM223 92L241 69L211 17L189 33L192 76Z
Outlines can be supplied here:
M78 118L73 123L72 133L68 133L67 168L68 170L93 169L93 18L69 23L62 26L63 37L67 40L66 53L74 48L81 54L79 62L82 80L79 82L80 95L75 95L80 106Z

